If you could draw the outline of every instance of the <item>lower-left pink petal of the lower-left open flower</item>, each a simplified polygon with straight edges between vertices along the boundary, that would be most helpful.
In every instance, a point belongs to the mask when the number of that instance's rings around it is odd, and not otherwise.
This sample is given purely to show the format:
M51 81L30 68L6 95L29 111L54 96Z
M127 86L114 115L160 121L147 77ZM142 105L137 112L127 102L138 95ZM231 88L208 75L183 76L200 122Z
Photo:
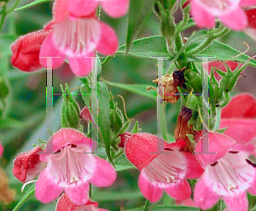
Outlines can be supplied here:
M63 187L56 184L55 181L49 177L47 168L41 172L36 183L35 191L35 196L40 202L52 202L61 195L62 191Z

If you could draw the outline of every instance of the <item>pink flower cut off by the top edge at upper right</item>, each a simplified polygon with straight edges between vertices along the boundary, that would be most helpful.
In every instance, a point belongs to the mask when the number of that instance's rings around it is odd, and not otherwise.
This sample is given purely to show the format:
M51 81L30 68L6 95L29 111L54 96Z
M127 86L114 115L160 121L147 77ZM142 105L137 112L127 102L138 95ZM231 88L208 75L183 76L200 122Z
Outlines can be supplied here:
M255 0L191 0L191 14L201 28L213 28L218 18L224 26L241 31L247 26L247 15L241 8L253 5Z

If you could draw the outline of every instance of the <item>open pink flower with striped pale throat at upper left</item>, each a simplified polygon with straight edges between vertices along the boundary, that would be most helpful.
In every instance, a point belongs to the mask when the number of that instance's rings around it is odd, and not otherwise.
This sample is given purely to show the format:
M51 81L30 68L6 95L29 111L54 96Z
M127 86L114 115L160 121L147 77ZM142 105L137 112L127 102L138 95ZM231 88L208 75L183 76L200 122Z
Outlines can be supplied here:
M95 12L81 18L70 19L67 0L56 0L54 20L44 30L50 30L40 50L40 64L47 65L42 57L53 59L53 68L61 66L68 58L73 73L79 77L88 75L95 63L95 51L114 54L118 37L113 29L97 20ZM86 58L84 58L86 57Z

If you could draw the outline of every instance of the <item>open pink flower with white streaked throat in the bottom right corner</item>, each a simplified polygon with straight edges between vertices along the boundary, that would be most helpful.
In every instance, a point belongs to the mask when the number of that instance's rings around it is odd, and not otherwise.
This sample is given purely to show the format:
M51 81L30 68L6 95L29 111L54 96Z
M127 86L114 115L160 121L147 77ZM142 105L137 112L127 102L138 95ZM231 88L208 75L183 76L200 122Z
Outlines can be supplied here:
M212 208L220 198L231 211L246 211L247 194L256 195L256 169L248 157L253 145L236 144L224 134L209 133L209 151L216 154L195 154L205 169L195 184L194 200L202 209ZM195 152L201 152L201 144Z

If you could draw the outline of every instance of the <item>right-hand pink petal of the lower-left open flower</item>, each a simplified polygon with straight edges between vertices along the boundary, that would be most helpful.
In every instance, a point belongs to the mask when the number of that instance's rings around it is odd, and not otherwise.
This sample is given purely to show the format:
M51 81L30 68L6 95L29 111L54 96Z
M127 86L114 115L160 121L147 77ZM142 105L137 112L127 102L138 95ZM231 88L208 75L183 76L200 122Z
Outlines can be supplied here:
M88 181L98 187L112 185L116 179L114 168L110 163L100 157L94 157L94 159L96 160L95 169L92 177Z

